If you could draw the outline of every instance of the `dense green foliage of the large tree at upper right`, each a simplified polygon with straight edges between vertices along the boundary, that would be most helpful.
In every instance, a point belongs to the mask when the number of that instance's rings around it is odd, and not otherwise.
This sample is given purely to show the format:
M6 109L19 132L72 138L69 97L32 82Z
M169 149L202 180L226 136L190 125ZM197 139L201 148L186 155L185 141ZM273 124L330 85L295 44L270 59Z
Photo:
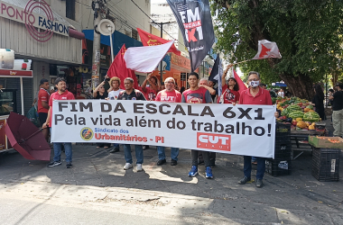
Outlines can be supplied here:
M264 82L280 79L311 98L312 83L339 67L343 51L341 0L212 0L217 48L232 61L253 58L258 40L275 41L283 58L252 60Z

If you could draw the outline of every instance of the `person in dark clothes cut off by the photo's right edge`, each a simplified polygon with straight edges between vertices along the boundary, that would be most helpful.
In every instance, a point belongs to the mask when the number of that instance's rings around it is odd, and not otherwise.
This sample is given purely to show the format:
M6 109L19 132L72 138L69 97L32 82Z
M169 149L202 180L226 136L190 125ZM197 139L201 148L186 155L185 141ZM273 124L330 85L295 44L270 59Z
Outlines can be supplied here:
M333 136L343 137L343 84L336 84L335 89L337 91L329 96L329 100L332 100Z

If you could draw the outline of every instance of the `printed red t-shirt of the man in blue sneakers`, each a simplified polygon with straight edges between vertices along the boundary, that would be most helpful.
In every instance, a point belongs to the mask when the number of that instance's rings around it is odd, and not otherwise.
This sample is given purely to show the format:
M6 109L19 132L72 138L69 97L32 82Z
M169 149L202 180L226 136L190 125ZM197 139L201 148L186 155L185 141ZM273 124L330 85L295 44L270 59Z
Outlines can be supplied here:
M199 87L196 91L188 89L182 93L181 103L212 103L212 97L205 87Z

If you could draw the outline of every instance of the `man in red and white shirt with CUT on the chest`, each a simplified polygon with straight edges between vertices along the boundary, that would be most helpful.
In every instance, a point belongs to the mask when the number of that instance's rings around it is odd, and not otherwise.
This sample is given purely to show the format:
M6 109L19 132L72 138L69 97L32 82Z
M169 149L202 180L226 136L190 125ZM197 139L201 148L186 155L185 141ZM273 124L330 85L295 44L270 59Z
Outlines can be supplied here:
M159 92L156 96L156 102L181 103L181 93L175 90L175 80L168 77L164 80L165 89ZM158 162L157 166L162 166L167 161L165 160L164 146L157 146ZM171 166L178 164L179 148L171 148L172 162Z

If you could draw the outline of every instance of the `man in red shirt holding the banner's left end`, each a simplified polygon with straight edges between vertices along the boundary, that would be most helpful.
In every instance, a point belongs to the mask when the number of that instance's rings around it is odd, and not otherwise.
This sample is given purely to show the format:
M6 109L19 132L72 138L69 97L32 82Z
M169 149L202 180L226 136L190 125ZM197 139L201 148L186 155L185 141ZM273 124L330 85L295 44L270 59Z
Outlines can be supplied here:
M52 119L52 101L54 100L73 100L74 98L74 94L70 93L67 89L66 89L66 81L64 80L63 77L58 77L55 80L55 86L57 87L57 92L52 93L50 96L50 100L49 100L49 112L48 112L48 118L46 119L46 121L44 122L44 124L42 125L42 128L47 128L48 126L51 128L51 119ZM53 166L60 166L60 150L62 147L62 144L64 144L64 149L65 149L65 153L66 153L66 163L67 163L67 168L72 168L71 165L71 157L72 157L72 148L71 148L71 143L70 142L66 142L66 143L53 143L53 152L54 152L54 156L53 156L53 160L51 161L51 163L48 164L48 167L53 167Z

